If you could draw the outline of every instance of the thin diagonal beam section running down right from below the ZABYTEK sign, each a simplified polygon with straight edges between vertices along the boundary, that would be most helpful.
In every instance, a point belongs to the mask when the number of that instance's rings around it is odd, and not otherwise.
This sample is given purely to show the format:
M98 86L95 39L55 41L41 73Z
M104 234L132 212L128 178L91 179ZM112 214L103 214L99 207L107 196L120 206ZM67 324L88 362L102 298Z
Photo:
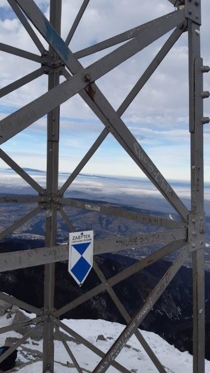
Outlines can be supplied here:
M97 265L97 263L96 263L95 260L93 262L93 269L94 269L95 273L97 274L98 278L101 280L101 282L103 282L103 283L106 284L106 291L110 295L110 298L112 298L114 304L116 305L116 307L119 310L119 312L121 313L121 315L124 317L125 321L127 323L129 323L131 321L131 317L129 316L128 312L125 310L125 308L123 307L123 305L120 302L119 298L115 294L114 290L112 289L112 286L110 286L110 284L107 283L106 277L101 272L101 270L98 267L98 265ZM151 361L153 362L153 364L155 365L155 367L157 368L157 370L160 373L166 373L166 370L164 369L163 365L160 363L160 361L158 360L158 358L156 357L156 355L154 354L154 352L151 350L151 348L148 345L147 341L142 336L140 330L137 329L134 334L135 334L136 338L138 339L138 341L140 342L140 344L142 345L142 347L144 348L145 352L150 357Z

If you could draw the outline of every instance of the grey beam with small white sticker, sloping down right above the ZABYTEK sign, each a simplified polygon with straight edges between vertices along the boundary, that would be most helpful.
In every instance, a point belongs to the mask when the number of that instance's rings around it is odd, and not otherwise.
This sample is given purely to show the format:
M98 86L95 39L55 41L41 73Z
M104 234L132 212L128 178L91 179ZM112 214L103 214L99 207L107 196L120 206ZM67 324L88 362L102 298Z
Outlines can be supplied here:
M61 188L60 194L62 190L63 189ZM90 210L90 211L94 211L94 212L101 213L101 214L122 217L123 219L136 220L141 223L162 226L165 228L175 229L175 228L183 228L187 226L186 223L178 222L176 220L164 219L162 217L153 216L153 215L145 215L145 214L138 213L136 211L123 210L123 209L119 209L118 207L113 207L113 206L99 205L95 203L91 204L88 202L76 201L76 200L71 200L67 198L58 198L58 201L62 205L76 207L78 209Z

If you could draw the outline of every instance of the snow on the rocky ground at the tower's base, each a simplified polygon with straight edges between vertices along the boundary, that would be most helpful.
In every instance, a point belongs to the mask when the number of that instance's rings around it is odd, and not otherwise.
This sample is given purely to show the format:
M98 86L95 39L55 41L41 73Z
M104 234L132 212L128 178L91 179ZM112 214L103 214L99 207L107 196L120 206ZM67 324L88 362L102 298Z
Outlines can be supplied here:
M113 342L125 327L119 323L111 323L104 320L62 320L62 322L86 338L89 342L91 342L91 344L97 346L97 348L103 352L109 350ZM11 323L12 319L6 319L5 316L0 317L0 327L10 325ZM192 372L192 355L190 355L188 352L178 351L175 347L169 345L166 341L154 333L145 332L143 330L141 333L165 367L167 373ZM98 339L99 335L103 335L105 340ZM4 341L8 336L21 338L21 335L16 332L1 334L1 345L4 345ZM42 342L42 340L37 342L28 339L24 345L18 348L18 358L16 360L17 367L15 370L13 370L13 372L42 372L42 362L38 360L40 352L42 352ZM72 350L73 354L75 355L75 358L81 366L83 372L92 372L94 367L100 361L100 358L82 344L76 344L73 341L68 341L68 345L70 350ZM77 370L73 367L73 363L61 341L55 341L54 352L54 373L77 373ZM127 342L126 347L123 348L116 360L134 373L158 372L135 336L132 336ZM31 364L33 361L34 363ZM118 371L115 368L110 367L107 372L116 373ZM206 372L210 372L210 361L207 360Z

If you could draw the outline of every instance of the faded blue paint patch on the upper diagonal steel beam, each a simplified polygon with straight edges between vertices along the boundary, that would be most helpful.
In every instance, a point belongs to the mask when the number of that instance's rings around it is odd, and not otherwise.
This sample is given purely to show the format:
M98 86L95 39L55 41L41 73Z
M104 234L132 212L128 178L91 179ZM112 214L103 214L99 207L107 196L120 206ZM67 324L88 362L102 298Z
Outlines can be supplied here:
M60 38L54 28L51 26L50 22L44 18L44 23L46 27L46 38L48 43L51 43L54 49L57 49L57 53L61 59L66 62L69 57L69 48L66 46L64 41Z

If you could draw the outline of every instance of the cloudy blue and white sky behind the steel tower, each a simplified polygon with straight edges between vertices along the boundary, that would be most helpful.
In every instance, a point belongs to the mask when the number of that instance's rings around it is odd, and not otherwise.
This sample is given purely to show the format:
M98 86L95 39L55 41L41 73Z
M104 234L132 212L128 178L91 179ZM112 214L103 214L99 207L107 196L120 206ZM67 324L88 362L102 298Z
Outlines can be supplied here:
M37 0L49 16L49 1ZM210 65L209 1L202 0L201 55ZM66 38L82 0L62 1L62 37ZM70 43L75 52L120 32L134 28L166 13L174 7L167 0L90 0L78 29ZM171 33L171 32L170 32ZM97 85L115 110L138 81L162 47L169 34L113 69ZM47 43L43 40L44 46ZM0 0L0 41L33 53L37 47L16 18L6 0ZM116 48L116 47L114 47ZM109 48L82 58L88 66L114 49ZM0 88L38 69L38 63L0 51ZM63 81L63 78L61 78ZM204 74L204 90L209 90L210 73ZM47 91L47 75L1 98L0 118L15 112ZM210 116L210 100L204 100L204 116ZM61 172L72 172L104 125L75 95L60 107ZM169 180L190 179L190 136L188 131L188 41L183 34L167 54L156 72L142 88L122 116L132 134ZM46 170L46 117L5 142L2 149L22 167ZM210 129L204 126L204 177L210 181ZM1 161L0 167L8 166ZM82 170L99 175L142 177L144 174L111 134Z

